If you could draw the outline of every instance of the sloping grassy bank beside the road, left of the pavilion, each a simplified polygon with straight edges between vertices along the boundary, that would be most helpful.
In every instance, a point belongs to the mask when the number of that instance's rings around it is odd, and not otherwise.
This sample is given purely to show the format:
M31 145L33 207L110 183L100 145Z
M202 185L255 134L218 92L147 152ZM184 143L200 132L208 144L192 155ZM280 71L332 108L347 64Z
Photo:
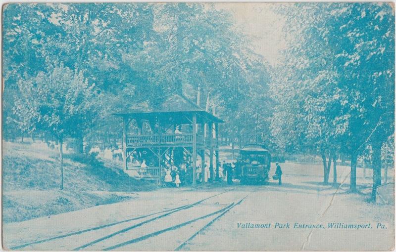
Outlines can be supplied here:
M130 177L111 162L95 156L66 154L64 190L59 189L56 150L43 145L3 142L2 217L4 222L110 204L152 190L148 181Z

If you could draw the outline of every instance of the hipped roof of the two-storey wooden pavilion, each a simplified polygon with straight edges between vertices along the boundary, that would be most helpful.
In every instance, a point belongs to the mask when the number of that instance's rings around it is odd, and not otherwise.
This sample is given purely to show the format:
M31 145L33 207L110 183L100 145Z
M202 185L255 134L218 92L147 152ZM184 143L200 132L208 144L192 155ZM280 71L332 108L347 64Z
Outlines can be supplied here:
M156 107L150 106L148 102L139 102L133 104L129 109L114 113L115 116L149 119L160 117L162 119L174 118L179 123L183 123L186 116L197 114L197 122L213 121L223 123L223 121L211 113L206 112L203 108L189 100L182 94L171 94L165 97ZM183 119L182 119L183 118Z

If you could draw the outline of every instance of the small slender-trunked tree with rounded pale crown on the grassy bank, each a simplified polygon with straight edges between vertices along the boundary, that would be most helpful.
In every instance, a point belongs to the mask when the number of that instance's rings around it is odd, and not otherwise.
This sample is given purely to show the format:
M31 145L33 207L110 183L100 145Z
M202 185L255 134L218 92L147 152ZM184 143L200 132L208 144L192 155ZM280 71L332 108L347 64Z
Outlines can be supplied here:
M46 131L59 142L63 189L63 140L89 126L96 117L99 97L95 84L89 84L82 72L59 64L47 73L19 80L17 85L21 95L15 97L13 112L23 120L21 129Z

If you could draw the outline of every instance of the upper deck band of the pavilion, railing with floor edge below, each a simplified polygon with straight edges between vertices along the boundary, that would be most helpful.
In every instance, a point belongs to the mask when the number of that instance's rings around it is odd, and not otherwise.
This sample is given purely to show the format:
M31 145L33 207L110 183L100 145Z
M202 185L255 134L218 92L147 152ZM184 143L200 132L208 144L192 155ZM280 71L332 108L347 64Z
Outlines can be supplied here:
M126 146L127 148L191 147L193 146L193 137L193 133L128 135ZM214 149L218 149L217 138L212 138L212 146ZM209 148L210 138L197 134L197 147Z

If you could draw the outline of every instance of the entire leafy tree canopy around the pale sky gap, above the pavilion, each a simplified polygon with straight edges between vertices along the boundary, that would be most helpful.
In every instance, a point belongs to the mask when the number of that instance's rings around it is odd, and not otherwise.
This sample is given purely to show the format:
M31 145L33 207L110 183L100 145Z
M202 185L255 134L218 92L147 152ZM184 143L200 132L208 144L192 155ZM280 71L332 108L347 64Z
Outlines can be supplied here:
M286 18L288 46L270 67L254 38L212 3L7 4L5 135L88 140L132 103L155 106L170 93L195 100L199 87L227 122L222 133L273 152L320 154L325 183L343 154L356 190L357 158L371 149L374 193L381 150L394 139L394 6L289 3L275 11Z

